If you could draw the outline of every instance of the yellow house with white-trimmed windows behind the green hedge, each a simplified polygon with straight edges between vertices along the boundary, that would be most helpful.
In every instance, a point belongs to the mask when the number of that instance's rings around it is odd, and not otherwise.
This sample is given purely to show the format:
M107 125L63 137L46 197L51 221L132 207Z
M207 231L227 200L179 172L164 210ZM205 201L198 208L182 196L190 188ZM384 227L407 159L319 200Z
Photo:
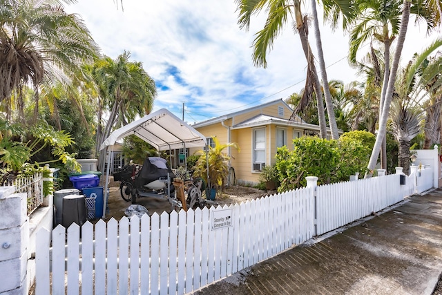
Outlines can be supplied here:
M282 99L253 106L243 111L215 117L193 125L213 146L213 137L220 144L236 142L226 151L231 156L236 181L239 184L257 184L265 165L276 162L276 149L287 146L293 149L292 140L303 135L319 135L319 126L307 124L300 117L289 121L293 110ZM192 155L196 150L191 149Z

